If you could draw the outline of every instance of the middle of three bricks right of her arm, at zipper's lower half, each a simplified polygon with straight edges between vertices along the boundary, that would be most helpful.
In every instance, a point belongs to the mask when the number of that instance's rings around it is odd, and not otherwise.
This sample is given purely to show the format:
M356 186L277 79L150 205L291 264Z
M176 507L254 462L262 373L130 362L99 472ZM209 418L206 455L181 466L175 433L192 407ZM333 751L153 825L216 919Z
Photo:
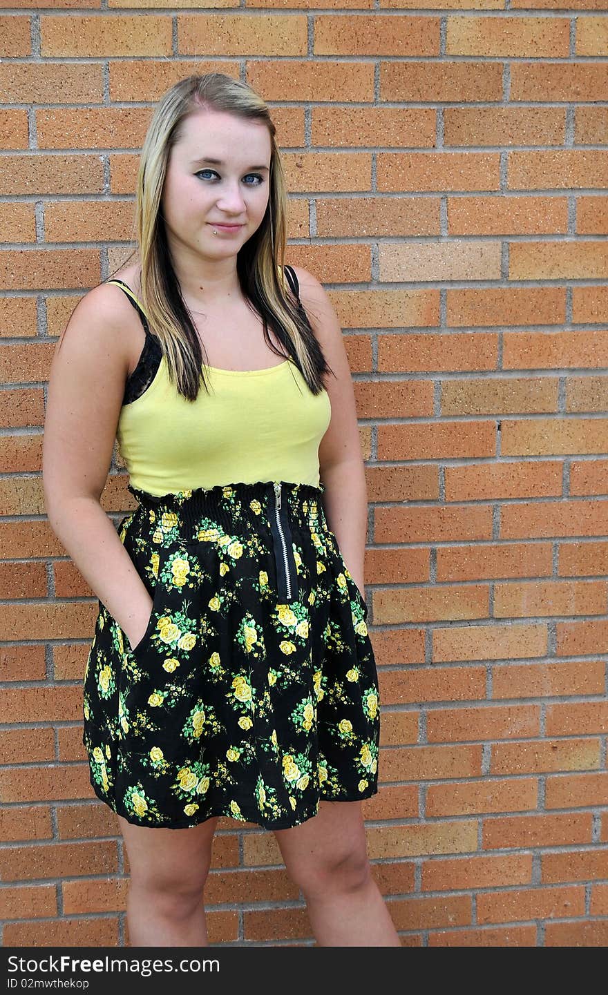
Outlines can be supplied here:
M488 497L488 495L479 495ZM437 580L487 580L491 577L550 576L548 542L483 543L441 546L437 550Z

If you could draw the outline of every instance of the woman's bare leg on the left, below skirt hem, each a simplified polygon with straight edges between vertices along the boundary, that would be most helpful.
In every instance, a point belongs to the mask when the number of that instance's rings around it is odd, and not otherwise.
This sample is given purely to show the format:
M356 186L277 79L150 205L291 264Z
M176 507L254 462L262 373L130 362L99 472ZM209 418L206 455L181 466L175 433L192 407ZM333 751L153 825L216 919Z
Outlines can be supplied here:
M193 829L149 829L118 816L128 854L131 946L209 946L203 888L217 817Z

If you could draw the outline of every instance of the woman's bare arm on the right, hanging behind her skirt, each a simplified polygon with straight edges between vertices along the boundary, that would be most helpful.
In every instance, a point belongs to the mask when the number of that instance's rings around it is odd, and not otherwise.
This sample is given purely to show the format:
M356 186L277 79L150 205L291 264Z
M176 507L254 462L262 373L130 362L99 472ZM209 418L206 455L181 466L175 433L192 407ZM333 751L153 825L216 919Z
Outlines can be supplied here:
M300 299L312 330L333 373L325 387L331 402L331 420L319 449L319 477L327 524L334 533L352 579L365 594L364 557L367 532L367 487L354 400L354 389L342 329L319 282L294 267Z

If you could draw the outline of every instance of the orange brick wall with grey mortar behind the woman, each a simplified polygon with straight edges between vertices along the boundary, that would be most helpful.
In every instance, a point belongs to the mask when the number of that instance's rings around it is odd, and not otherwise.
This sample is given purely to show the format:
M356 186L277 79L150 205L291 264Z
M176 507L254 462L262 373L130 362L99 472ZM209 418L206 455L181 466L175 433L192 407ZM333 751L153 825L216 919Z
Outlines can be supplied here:
M383 698L364 811L402 942L608 943L608 17L351 6L0 15L5 945L128 941L81 744L97 599L44 513L45 380L130 251L153 102L211 70L273 107L288 262L322 276L353 370ZM114 459L116 521L125 483ZM311 942L255 827L221 821L207 905L214 942Z

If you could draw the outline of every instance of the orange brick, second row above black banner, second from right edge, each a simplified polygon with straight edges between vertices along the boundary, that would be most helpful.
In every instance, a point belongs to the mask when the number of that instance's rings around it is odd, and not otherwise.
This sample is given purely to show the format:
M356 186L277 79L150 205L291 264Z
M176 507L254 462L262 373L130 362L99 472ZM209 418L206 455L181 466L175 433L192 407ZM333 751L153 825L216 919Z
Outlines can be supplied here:
M529 888L477 896L478 921L570 918L585 914L584 888Z

